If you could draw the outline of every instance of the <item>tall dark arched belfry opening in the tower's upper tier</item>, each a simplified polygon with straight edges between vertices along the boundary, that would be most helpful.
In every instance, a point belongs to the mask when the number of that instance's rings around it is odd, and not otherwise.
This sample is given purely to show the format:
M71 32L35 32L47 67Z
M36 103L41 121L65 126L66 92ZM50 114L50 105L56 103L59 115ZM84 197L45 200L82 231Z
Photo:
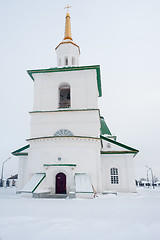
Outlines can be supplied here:
M68 84L64 84L59 88L59 108L69 108L70 106L70 86Z

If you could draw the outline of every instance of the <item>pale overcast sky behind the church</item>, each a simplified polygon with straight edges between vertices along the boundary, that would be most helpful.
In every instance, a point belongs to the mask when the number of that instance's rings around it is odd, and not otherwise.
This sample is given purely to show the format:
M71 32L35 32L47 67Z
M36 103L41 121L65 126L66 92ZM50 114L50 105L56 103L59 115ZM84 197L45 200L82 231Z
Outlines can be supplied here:
M0 0L0 167L27 144L33 81L28 69L56 66L65 0ZM101 66L101 115L117 140L138 149L136 177L146 165L160 178L160 1L81 0L72 5L72 37L80 65ZM18 161L6 162L5 177Z

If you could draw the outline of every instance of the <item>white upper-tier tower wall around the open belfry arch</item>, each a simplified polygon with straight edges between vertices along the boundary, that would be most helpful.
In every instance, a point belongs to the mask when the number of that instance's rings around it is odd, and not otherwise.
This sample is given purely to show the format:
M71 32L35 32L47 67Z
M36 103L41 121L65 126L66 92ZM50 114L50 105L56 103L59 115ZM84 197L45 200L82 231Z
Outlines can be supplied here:
M95 69L67 72L35 73L34 111L59 108L59 87L71 88L71 109L98 108L97 74Z

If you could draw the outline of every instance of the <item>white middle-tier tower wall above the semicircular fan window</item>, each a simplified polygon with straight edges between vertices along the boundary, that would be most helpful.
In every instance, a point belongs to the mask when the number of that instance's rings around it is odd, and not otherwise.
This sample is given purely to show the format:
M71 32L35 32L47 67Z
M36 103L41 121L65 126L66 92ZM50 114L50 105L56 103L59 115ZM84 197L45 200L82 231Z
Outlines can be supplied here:
M53 136L59 129L68 129L75 136L99 137L99 111L31 113L31 138Z

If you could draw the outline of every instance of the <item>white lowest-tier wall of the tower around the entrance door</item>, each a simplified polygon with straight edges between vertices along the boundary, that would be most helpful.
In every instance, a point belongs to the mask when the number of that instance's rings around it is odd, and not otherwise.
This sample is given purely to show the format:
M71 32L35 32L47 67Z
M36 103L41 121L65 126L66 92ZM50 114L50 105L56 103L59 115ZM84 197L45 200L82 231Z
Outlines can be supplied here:
M88 173L94 188L101 191L100 141L79 138L57 138L30 141L28 180L34 173L46 172L45 189L55 190L55 176L64 172L67 176L67 191L74 188L74 174ZM61 161L58 160L61 157ZM44 164L76 164L70 166L50 166Z

